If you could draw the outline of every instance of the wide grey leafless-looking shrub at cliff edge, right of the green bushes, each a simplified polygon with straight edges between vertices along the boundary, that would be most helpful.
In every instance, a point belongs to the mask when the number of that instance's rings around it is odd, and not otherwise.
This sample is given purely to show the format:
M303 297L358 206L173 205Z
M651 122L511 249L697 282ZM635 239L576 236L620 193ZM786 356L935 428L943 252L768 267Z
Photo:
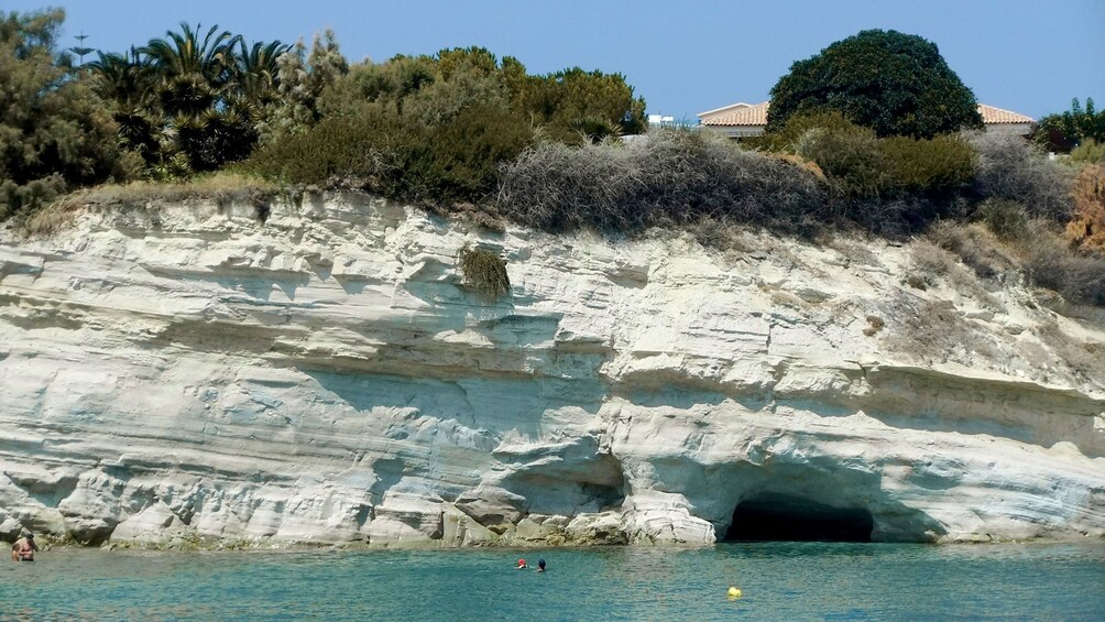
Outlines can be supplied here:
M662 130L629 145L543 143L499 170L496 205L545 231L634 232L702 219L804 232L827 187L807 170L712 133Z

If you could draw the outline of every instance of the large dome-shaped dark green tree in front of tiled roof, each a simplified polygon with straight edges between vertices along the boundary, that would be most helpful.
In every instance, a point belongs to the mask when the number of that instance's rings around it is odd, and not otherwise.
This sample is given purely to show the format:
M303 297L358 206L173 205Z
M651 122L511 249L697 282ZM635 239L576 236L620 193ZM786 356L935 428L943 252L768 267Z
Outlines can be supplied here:
M818 110L838 110L878 136L932 138L982 126L975 94L936 44L893 30L862 31L791 65L771 89L767 130Z

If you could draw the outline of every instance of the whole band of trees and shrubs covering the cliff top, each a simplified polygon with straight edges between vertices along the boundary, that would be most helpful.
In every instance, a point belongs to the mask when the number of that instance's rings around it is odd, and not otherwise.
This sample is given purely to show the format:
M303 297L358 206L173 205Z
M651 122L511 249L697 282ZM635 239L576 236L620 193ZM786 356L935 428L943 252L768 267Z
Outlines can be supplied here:
M929 260L1105 305L1102 114L1075 101L1034 140L979 131L970 89L919 36L864 31L794 63L768 134L736 144L646 131L620 74L533 75L482 48L349 63L332 32L308 48L182 23L77 66L63 20L0 12L0 221L25 232L194 197L250 201L263 222L281 197L352 189L496 228L677 226L719 247L748 226L927 235ZM1041 149L1060 144L1071 156ZM460 257L498 295L491 259Z

